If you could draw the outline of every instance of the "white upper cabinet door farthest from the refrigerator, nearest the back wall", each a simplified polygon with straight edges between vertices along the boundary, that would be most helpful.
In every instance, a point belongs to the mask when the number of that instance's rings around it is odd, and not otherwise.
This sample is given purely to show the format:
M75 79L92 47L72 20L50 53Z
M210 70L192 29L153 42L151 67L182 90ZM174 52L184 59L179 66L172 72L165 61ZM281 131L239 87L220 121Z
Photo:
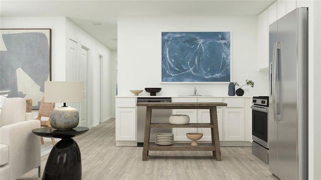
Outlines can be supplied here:
M268 10L258 16L258 69L269 68L269 25Z

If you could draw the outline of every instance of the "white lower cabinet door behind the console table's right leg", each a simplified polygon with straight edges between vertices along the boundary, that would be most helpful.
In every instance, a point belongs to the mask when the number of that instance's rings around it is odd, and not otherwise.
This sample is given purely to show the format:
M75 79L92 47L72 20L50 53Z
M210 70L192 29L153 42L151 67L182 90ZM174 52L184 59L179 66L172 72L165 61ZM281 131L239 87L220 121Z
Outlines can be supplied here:
M210 123L210 110L209 109L198 109L197 110L198 123ZM223 128L222 128L222 108L217 108L217 120L219 124L219 136L220 141L223 141ZM198 133L203 133L202 139L199 141L212 141L211 128L197 128Z

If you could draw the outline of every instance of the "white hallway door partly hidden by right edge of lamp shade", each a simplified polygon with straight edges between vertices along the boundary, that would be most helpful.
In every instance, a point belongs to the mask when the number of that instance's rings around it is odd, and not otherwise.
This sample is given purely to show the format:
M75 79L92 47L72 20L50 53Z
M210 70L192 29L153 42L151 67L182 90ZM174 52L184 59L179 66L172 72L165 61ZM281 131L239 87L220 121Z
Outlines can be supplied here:
M81 48L80 54L80 81L84 82L83 87L83 102L80 103L79 119L80 125L83 127L89 127L87 119L87 62L88 62L88 49L85 47Z

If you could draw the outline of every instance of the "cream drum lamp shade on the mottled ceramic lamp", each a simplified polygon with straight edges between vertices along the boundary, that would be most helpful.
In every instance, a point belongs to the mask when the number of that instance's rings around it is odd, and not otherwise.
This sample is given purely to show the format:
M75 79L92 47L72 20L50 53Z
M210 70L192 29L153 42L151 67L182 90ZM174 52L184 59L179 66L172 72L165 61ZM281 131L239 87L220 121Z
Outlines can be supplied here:
M75 81L46 81L45 101L46 102L83 102L84 82Z

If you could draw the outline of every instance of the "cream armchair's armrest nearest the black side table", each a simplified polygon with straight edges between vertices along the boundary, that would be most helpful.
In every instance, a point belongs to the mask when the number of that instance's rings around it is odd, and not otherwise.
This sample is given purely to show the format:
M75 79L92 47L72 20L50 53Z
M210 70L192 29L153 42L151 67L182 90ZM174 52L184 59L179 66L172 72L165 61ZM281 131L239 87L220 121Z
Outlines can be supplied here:
M39 120L28 120L2 126L0 143L9 147L11 179L40 166L40 137L31 132L40 128Z

